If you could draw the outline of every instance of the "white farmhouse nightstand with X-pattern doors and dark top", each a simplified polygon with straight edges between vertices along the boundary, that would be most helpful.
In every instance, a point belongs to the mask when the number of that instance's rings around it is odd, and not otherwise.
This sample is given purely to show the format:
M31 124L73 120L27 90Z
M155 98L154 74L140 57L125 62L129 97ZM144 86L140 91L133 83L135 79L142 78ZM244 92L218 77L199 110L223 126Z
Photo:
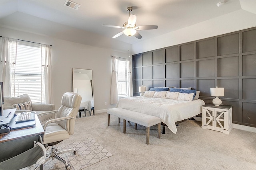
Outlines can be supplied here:
M202 106L202 128L229 134L232 130L232 106Z

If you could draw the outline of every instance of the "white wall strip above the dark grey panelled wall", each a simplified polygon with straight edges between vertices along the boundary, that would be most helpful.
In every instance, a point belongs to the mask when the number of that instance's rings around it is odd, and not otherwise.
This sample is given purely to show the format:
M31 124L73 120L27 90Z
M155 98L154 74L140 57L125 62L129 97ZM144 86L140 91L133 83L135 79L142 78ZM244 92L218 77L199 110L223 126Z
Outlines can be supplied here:
M256 26L256 14L238 10L132 45L132 54L196 41Z

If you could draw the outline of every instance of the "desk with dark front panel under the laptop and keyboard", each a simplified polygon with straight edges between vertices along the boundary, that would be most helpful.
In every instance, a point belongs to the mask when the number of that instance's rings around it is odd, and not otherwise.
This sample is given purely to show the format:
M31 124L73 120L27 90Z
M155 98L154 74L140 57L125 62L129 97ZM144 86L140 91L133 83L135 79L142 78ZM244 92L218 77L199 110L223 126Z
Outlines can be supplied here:
M0 162L34 147L33 142L40 141L38 135L43 138L44 129L38 116L35 115L35 117L36 125L33 127L12 130L8 134L0 134Z

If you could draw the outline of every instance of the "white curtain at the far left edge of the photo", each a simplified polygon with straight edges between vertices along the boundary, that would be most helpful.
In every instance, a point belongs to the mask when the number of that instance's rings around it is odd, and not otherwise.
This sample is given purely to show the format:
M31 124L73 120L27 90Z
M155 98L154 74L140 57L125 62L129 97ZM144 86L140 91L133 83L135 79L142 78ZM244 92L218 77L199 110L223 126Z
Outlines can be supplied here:
M0 82L4 85L4 96L11 96L11 76L15 74L11 75L10 70L15 72L17 41L17 39L8 37L0 39Z

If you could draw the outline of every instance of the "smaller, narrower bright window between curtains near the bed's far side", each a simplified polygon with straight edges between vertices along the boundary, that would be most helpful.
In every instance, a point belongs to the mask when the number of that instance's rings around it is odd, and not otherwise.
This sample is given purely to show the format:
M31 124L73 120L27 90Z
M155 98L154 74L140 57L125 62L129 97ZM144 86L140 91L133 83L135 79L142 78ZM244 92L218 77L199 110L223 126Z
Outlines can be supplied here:
M128 61L118 59L116 64L116 72L118 73L118 97L128 97L128 80L127 80Z

